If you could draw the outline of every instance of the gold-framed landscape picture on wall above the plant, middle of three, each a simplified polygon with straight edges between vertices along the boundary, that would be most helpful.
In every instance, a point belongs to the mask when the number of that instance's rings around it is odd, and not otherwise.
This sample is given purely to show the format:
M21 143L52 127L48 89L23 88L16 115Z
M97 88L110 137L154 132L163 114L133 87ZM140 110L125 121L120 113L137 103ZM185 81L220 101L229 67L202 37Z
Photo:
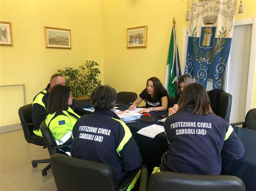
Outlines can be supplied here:
M55 27L44 27L44 38L46 48L71 49L71 30Z

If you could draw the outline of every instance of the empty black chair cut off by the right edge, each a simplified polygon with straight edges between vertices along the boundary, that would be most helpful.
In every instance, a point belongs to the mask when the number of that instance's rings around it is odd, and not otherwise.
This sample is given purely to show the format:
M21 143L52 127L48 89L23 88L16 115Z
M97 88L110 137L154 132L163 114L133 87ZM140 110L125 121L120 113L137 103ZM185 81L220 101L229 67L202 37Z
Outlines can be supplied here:
M244 122L231 123L231 125L242 125L242 128L256 130L256 108L247 112Z

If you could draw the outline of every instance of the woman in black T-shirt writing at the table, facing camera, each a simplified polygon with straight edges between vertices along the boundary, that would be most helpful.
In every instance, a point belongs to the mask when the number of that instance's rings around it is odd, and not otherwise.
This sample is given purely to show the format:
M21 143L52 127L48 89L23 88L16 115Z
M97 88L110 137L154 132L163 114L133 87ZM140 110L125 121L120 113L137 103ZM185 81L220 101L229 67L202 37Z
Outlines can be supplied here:
M157 77L150 77L147 80L146 88L139 94L139 97L132 103L129 110L134 110L142 101L146 102L146 108L139 111L166 111L168 108L168 93Z

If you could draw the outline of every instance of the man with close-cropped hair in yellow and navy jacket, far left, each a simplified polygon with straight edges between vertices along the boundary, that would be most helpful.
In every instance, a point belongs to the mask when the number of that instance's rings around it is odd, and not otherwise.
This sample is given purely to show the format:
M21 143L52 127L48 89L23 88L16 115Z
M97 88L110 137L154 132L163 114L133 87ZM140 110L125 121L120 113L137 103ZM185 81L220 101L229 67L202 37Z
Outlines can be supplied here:
M42 133L39 130L39 126L44 121L47 115L46 107L51 88L57 84L62 84L65 86L65 78L60 74L52 75L48 86L33 98L31 115L33 124L35 124L33 133L35 133L37 136L42 137Z

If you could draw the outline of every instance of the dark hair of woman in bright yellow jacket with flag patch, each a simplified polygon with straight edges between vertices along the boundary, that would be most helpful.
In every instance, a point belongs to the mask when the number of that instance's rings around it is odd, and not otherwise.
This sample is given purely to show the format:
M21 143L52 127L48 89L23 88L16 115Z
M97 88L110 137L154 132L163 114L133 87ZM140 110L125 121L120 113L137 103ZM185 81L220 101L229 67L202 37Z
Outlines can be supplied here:
M53 114L68 109L70 87L57 84L52 87L48 98L46 112Z

